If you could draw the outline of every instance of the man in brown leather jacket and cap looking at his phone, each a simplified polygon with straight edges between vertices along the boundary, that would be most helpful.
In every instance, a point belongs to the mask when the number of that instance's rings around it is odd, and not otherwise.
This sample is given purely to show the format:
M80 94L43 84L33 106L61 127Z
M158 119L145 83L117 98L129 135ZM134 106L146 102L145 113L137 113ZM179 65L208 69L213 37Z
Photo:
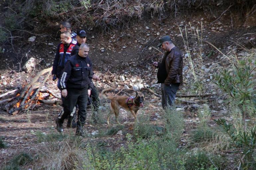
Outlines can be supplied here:
M175 96L179 86L182 84L183 59L181 50L176 47L170 36L159 39L158 47L166 51L162 62L153 62L158 68L157 83L161 83L162 107L170 107L175 102Z

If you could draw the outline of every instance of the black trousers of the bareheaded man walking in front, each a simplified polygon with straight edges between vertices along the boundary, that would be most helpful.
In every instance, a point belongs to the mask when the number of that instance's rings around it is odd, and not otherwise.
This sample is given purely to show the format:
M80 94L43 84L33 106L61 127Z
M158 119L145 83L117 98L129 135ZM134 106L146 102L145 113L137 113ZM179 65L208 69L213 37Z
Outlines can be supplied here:
M86 119L86 107L88 101L88 89L75 89L75 88L67 88L67 96L63 101L63 114L59 115L59 118L62 122L72 112L75 104L78 105L78 112L77 112L77 126L83 126Z

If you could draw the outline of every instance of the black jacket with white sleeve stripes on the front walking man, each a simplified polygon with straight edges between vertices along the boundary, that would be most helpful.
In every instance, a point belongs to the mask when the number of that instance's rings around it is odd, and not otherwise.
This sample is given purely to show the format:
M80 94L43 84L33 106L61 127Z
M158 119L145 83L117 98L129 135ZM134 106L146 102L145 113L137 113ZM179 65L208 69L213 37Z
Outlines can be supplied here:
M88 57L75 54L67 60L62 76L61 88L92 88L92 62Z

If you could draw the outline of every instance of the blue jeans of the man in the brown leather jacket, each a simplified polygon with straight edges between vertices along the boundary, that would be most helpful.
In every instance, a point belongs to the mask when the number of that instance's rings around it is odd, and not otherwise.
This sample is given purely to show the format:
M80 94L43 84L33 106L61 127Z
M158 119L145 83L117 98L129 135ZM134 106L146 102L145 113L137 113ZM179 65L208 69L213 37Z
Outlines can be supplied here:
M175 102L175 96L177 90L179 89L180 83L172 83L170 85L165 85L161 83L161 92L162 92L162 107L171 107Z

